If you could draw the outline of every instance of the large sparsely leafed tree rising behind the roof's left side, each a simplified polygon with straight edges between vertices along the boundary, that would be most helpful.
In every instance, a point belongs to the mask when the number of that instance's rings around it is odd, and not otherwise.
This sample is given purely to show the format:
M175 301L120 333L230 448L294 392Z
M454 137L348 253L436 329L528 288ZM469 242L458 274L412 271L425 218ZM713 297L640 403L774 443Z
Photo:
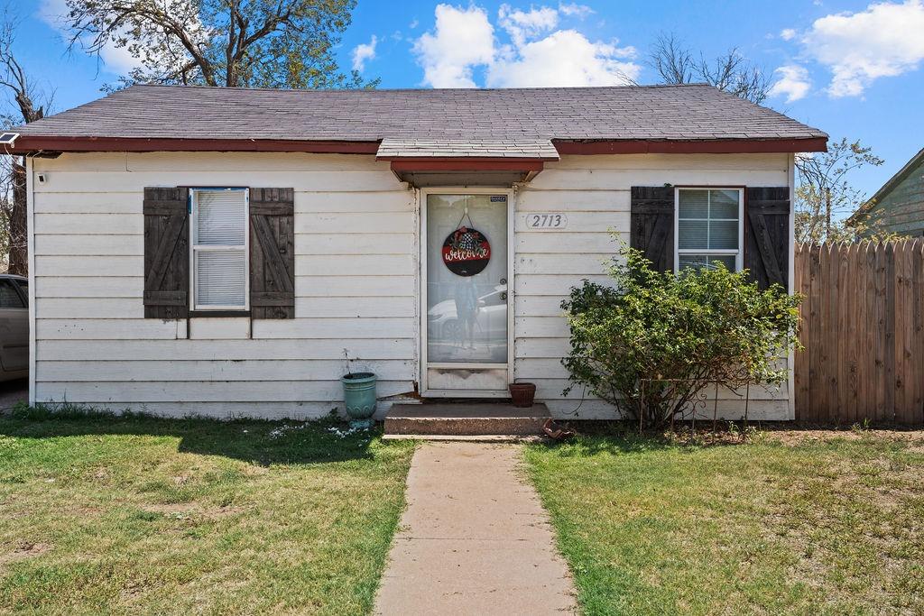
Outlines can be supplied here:
M115 45L131 83L251 88L374 87L345 74L334 46L356 0L67 0L71 45Z

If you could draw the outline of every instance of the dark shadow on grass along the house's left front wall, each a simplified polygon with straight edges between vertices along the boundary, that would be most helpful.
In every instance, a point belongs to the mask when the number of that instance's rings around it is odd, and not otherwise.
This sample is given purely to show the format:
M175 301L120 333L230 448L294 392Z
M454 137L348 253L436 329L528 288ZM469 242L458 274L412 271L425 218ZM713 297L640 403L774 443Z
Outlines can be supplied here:
M179 439L178 451L221 455L252 464L322 464L372 459L381 429L353 431L339 417L313 421L166 418L115 413L75 405L17 405L0 415L0 436L55 439L87 435Z

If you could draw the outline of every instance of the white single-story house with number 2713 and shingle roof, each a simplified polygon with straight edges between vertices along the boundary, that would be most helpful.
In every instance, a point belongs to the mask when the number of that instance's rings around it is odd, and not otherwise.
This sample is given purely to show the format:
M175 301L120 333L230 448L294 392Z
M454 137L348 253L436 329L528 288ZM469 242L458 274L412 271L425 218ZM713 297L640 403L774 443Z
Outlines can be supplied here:
M219 417L342 408L345 355L380 413L516 379L613 417L563 395L560 363L559 304L604 280L609 230L662 269L791 288L794 153L827 139L705 85L134 86L18 130L30 400ZM793 417L787 387L752 398Z

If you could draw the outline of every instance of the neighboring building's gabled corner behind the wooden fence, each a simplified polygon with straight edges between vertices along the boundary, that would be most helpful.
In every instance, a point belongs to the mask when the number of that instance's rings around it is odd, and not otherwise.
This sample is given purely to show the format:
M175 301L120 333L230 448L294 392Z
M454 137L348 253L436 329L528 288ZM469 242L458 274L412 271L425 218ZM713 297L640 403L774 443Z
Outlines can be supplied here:
M847 219L848 226L857 224L870 232L924 236L924 150L918 151Z

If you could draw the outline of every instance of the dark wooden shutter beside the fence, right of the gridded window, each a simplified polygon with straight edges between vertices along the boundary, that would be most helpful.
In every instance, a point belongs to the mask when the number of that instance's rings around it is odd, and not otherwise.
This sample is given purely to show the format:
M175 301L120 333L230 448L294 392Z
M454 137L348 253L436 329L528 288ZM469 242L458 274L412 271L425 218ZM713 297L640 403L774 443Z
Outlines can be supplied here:
M789 290L789 187L748 187L745 267L761 289Z

